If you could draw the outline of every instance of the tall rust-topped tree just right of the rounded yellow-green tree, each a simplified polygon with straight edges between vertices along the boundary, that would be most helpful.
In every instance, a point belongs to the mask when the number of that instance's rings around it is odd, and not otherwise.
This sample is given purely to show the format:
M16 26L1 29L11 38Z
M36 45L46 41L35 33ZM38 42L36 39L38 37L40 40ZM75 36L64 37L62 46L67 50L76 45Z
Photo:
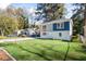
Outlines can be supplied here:
M28 16L25 13L24 9L16 9L16 18L19 21L19 28L20 29L25 29L28 28Z

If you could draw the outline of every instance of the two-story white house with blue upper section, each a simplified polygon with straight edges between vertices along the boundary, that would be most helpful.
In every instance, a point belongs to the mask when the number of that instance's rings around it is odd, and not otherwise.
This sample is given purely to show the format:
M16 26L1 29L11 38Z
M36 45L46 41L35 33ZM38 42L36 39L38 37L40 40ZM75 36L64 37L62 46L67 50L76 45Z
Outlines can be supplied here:
M70 18L60 18L40 24L40 38L71 40L73 22Z

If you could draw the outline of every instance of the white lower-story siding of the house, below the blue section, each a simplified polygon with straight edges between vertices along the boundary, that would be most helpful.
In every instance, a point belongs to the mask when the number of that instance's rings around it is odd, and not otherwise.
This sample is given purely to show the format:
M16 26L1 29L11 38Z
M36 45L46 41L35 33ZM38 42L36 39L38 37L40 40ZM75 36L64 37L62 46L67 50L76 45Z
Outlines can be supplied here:
M44 31L42 31L44 33ZM52 39L62 39L62 40L71 40L70 31L46 31L47 35L40 34L41 38L52 38ZM62 34L62 36L59 36L59 33Z

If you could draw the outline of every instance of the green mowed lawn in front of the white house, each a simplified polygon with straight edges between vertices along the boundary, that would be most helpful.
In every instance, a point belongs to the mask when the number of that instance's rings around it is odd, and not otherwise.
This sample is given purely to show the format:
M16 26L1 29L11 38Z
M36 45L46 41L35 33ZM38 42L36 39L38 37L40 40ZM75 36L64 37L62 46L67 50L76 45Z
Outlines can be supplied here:
M70 50L65 59L67 44ZM79 42L49 39L29 39L17 42L0 43L17 61L63 61L86 60L86 50Z

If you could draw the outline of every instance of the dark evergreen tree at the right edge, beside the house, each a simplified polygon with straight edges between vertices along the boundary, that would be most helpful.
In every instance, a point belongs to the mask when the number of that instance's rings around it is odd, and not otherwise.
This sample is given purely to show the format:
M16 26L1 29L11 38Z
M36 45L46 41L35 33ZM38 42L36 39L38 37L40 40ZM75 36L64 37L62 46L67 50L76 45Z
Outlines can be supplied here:
M74 21L74 27L77 33L75 34L81 34L84 37L84 42L86 39L86 4L85 3L75 3L75 14L72 16Z

